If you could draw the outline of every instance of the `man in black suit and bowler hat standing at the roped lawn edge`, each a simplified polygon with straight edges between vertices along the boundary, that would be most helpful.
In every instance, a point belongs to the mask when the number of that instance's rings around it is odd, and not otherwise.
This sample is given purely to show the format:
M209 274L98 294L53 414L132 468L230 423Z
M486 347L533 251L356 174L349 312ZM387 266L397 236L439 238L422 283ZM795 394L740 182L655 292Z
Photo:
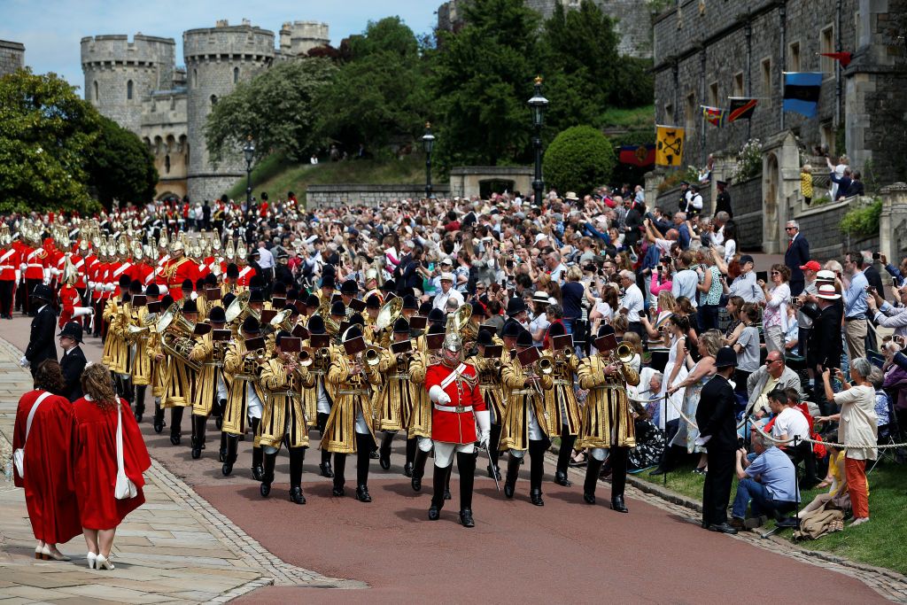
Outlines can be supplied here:
M707 449L708 474L702 488L702 526L710 532L736 533L727 523L737 446L734 387L736 353L724 346L715 357L717 374L702 388L696 410L697 444Z

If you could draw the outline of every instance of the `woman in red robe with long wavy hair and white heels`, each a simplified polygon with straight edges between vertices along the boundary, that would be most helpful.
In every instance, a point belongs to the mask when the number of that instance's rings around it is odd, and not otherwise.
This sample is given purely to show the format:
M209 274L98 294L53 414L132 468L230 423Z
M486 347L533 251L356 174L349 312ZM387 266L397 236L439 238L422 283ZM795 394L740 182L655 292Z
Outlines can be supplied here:
M107 366L86 366L82 390L85 396L73 403L73 483L88 544L88 566L112 570L109 560L113 536L123 518L145 502L141 473L151 466L151 458L132 409L113 389ZM117 404L122 407L123 466L138 491L127 500L117 500L113 495L117 475Z

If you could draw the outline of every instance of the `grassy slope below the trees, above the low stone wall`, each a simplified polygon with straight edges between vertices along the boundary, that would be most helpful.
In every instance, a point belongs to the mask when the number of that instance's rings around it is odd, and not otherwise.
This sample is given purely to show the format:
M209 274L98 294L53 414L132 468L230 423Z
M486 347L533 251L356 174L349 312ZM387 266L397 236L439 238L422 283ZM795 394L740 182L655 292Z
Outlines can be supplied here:
M282 155L268 156L252 169L252 192L258 196L268 191L272 197L283 197L288 191L304 200L307 185L399 184L425 181L425 158L420 153L403 160L323 161L315 166L308 162L288 161ZM246 195L246 179L240 179L227 191L233 200Z

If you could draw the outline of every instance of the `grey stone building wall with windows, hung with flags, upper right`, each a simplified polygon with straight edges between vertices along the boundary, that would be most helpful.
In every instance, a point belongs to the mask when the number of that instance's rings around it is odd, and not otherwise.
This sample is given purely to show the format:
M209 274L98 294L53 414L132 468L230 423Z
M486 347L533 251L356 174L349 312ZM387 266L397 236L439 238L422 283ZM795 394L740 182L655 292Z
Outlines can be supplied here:
M835 78L835 62L817 56L853 52L859 23L859 0L754 0L749 3L685 0L655 20L655 108L659 124L687 129L685 165L705 164L707 153L737 150L747 138L765 141L790 129L808 147L828 144L834 151L838 91L843 122L844 81ZM824 48L831 28L833 48ZM828 72L822 84L818 115L808 119L781 111L783 72ZM840 86L839 86L840 85ZM750 121L716 128L702 119L700 105L727 108L728 96L759 98Z

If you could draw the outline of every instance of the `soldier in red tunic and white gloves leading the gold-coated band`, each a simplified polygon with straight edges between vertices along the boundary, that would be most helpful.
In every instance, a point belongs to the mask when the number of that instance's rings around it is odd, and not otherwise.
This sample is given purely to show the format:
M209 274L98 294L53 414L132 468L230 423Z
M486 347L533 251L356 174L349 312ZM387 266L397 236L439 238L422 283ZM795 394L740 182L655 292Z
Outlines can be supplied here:
M444 506L444 487L453 454L460 472L460 522L474 527L473 479L475 442L488 446L491 419L474 366L463 363L463 342L456 334L444 337L442 363L428 367L425 388L432 400L434 441L434 493L428 518L437 521ZM478 426L478 430L476 427Z

